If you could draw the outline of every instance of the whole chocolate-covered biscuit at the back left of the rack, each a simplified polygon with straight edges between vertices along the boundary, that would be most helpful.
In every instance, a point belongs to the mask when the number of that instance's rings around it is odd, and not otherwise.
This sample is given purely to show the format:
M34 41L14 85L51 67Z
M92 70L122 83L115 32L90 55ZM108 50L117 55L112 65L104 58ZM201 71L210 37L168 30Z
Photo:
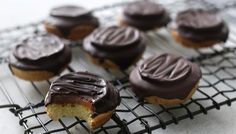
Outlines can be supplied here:
M97 28L99 22L91 11L66 5L53 8L44 24L49 33L69 40L80 40Z

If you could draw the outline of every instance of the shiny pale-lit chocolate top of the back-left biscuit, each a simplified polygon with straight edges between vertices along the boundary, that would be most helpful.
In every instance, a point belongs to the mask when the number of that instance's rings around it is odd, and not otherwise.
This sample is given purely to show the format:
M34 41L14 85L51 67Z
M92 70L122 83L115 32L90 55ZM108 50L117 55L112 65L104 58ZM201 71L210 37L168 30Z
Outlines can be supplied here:
M67 5L53 8L50 15L54 17L78 18L91 15L91 12L83 7Z

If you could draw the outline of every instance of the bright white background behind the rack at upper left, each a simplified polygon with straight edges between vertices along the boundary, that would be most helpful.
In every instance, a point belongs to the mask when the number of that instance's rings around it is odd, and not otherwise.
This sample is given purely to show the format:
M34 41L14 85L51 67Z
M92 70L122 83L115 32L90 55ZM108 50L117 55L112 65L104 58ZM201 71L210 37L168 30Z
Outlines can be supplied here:
M54 6L76 4L88 9L124 0L0 0L0 29L43 20Z

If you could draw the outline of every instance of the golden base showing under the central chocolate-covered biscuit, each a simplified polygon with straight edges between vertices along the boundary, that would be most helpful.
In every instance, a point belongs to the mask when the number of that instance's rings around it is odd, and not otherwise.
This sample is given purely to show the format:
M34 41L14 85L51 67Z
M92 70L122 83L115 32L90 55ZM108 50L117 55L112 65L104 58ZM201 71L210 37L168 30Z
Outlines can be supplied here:
M109 59L103 59L103 60L100 60L99 58L95 58L93 56L91 56L90 54L87 54L86 53L86 56L88 57L88 59L95 65L99 65L99 66L102 66L104 68L109 68L111 70L119 70L120 67L118 65L116 65L114 62L112 62L111 60ZM132 64L135 64L140 58L142 57L142 54L140 54ZM132 65L130 64L130 65Z

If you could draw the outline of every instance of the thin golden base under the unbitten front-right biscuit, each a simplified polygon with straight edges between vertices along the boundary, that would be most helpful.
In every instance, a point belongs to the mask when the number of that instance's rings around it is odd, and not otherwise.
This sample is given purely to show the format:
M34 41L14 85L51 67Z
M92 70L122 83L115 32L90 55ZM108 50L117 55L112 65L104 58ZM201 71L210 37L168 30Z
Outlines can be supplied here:
M199 82L198 82L199 83ZM150 97L145 97L144 100L155 105L176 105L176 104L181 104L187 101L192 97L192 95L195 93L195 91L198 88L198 83L193 87L191 92L188 94L188 96L184 99L164 99L160 98L157 96L150 96Z

